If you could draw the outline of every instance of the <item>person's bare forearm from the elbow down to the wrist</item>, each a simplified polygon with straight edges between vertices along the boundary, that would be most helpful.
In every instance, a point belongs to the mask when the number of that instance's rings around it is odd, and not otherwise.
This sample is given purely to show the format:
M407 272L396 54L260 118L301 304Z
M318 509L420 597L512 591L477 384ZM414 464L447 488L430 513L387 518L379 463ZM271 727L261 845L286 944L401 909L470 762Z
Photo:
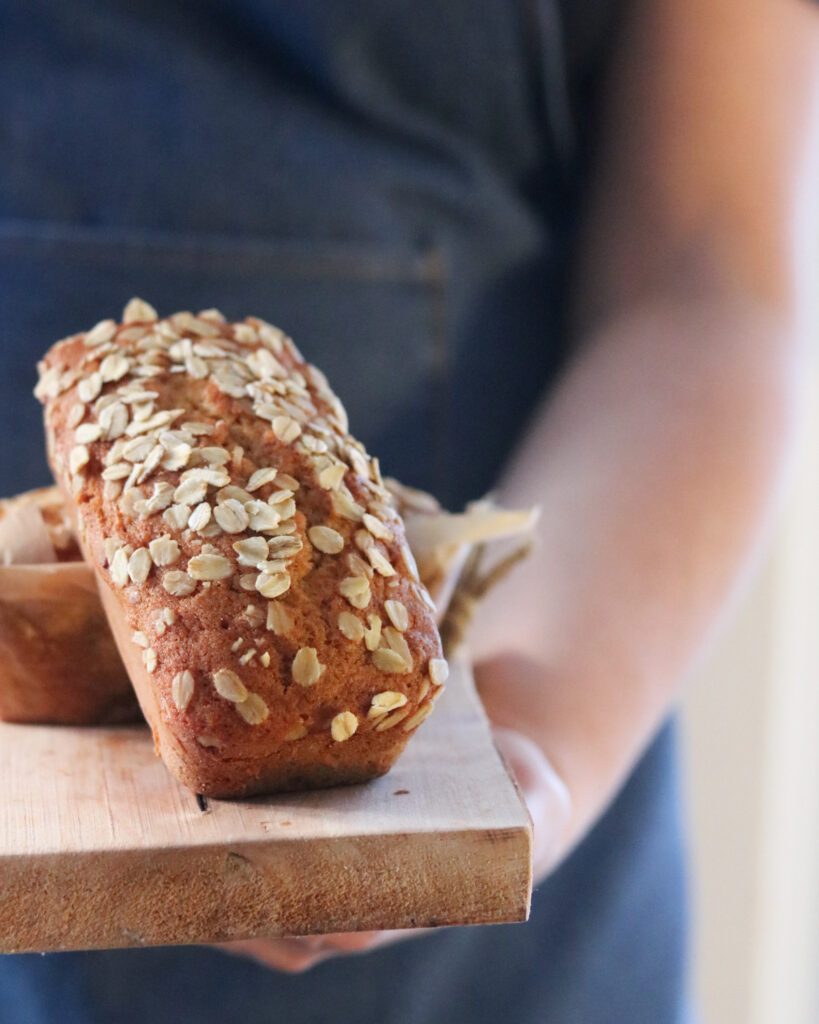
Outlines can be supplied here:
M490 717L546 752L572 842L667 713L769 518L799 339L746 305L657 300L590 343L502 483L534 555L474 630ZM482 663L482 664L480 664Z

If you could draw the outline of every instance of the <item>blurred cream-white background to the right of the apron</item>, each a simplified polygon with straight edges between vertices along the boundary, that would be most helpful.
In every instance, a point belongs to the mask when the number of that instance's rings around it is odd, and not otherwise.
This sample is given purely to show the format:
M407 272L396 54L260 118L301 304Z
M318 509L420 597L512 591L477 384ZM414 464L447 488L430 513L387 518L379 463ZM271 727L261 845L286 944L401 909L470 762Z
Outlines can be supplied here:
M813 384L815 395L817 373ZM811 416L764 568L684 707L703 1024L819 1020L819 416Z

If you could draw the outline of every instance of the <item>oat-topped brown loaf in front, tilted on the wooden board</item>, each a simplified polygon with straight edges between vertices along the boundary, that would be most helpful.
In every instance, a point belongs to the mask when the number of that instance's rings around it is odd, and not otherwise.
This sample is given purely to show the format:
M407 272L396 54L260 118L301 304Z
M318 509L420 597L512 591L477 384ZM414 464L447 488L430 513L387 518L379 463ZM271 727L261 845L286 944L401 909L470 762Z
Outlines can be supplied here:
M54 345L36 393L158 753L216 797L383 774L447 669L378 462L269 324L123 319Z

